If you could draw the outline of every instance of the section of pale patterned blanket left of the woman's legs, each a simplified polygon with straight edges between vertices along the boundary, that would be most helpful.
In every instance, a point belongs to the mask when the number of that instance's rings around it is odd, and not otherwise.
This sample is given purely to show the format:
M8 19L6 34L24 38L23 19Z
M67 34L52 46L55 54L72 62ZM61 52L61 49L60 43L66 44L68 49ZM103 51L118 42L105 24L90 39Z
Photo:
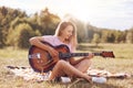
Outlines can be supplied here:
M31 67L7 66L14 76L22 77L24 80L48 80L50 73L37 73Z

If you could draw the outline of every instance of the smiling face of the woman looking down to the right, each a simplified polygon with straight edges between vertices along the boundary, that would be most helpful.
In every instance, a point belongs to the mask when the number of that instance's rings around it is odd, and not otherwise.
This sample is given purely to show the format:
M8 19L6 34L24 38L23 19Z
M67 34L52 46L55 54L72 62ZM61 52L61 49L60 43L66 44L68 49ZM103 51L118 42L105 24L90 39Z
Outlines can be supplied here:
M68 25L63 31L62 31L62 37L65 40L71 38L73 34L73 26L72 25Z

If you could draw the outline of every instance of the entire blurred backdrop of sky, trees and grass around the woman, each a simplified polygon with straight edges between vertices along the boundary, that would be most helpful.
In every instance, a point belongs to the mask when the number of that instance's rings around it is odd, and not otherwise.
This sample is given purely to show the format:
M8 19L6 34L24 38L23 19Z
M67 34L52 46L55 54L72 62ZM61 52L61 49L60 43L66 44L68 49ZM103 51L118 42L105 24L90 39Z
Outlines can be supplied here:
M133 0L0 0L0 88L70 88L72 84L25 81L7 66L30 67L29 38L51 35L61 21L78 28L75 52L112 51L115 59L95 56L93 67L133 75ZM10 80L10 81L9 81ZM133 78L106 84L81 81L71 88L132 88Z

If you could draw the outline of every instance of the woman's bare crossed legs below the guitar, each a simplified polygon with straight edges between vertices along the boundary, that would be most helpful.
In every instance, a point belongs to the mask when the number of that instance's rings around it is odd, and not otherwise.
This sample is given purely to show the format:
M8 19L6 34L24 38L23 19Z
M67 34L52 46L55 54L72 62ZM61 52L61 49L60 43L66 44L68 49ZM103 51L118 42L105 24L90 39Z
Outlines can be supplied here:
M54 79L55 77L68 75L70 77L81 77L86 79L88 81L91 81L91 77L84 74L84 72L88 70L90 65L90 59L83 59L75 66L72 66L65 61L59 61L51 73L50 80Z

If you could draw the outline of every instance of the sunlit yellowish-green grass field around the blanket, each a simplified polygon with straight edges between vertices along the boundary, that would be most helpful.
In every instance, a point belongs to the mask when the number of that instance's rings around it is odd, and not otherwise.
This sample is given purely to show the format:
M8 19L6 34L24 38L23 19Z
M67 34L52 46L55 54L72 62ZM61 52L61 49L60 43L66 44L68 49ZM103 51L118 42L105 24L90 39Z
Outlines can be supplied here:
M113 51L115 58L103 58L95 56L93 61L94 68L104 68L112 73L133 74L133 44L80 44L76 52L98 52ZM89 84L79 81L75 85L61 82L34 82L25 81L20 77L12 75L6 66L29 66L28 50L13 50L7 47L0 50L0 88L132 88L133 78L129 79L108 79L105 84Z

